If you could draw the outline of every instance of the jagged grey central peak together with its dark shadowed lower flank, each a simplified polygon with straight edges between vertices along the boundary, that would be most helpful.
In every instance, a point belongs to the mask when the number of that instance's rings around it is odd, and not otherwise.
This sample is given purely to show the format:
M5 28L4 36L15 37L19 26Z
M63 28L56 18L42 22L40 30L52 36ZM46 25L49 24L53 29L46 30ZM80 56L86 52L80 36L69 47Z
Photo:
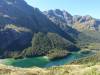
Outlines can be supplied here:
M66 33L77 35L78 32L70 27L73 24L73 16L70 13L56 9L44 11L44 14Z

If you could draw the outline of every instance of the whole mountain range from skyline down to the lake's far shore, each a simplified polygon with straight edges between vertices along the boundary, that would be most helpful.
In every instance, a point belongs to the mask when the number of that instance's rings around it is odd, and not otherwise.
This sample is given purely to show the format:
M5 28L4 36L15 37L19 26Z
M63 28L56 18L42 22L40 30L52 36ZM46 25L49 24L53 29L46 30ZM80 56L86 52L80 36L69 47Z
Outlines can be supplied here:
M99 32L100 20L89 15L72 16L59 9L41 12L24 0L0 1L1 58L78 51L100 43Z

